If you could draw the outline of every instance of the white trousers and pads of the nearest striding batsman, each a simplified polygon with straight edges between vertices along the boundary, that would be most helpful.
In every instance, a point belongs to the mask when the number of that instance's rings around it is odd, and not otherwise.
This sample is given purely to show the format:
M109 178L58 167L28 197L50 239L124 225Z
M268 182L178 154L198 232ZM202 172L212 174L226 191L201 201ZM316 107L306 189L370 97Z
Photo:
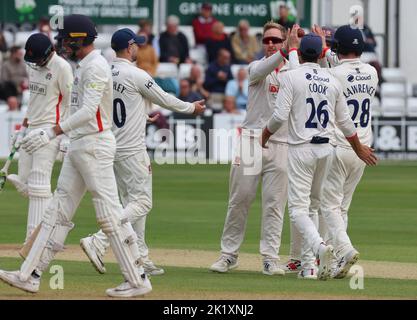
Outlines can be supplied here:
M125 279L134 286L142 283L136 235L130 223L122 219L123 208L113 171L115 151L116 141L110 130L71 141L41 231L21 267L23 277L31 274L36 262L36 269L45 270L55 254L62 250L73 227L71 221L75 211L85 192L89 191L97 221L110 239Z

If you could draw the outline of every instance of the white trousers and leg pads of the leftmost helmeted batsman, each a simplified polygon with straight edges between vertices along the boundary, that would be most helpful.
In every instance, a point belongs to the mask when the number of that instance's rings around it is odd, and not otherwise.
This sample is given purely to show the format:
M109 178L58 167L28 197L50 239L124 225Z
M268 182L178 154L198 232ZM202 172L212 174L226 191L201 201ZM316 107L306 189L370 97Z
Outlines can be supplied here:
M42 216L52 199L51 175L55 159L59 153L61 139L53 139L46 146L28 154L19 150L18 179L24 185L21 192L29 198L28 219L25 242L33 230L41 223Z

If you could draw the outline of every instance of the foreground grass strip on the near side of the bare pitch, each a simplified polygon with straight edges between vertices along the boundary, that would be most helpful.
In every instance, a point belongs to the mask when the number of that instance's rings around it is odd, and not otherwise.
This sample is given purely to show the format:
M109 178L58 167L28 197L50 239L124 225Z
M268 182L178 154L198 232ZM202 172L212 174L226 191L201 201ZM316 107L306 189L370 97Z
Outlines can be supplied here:
M0 299L94 299L105 298L105 290L122 282L116 264L108 264L108 272L98 275L87 262L55 261L65 269L64 290L49 288L50 274L42 279L40 293L36 296L0 284ZM18 268L17 259L5 258L2 268ZM149 299L201 299L244 298L250 299L417 299L417 280L366 278L363 290L350 289L350 279L329 281L298 280L295 274L285 277L269 277L259 272L234 271L215 274L203 268L167 267L166 275L152 277L153 291ZM237 295L235 295L237 293Z

